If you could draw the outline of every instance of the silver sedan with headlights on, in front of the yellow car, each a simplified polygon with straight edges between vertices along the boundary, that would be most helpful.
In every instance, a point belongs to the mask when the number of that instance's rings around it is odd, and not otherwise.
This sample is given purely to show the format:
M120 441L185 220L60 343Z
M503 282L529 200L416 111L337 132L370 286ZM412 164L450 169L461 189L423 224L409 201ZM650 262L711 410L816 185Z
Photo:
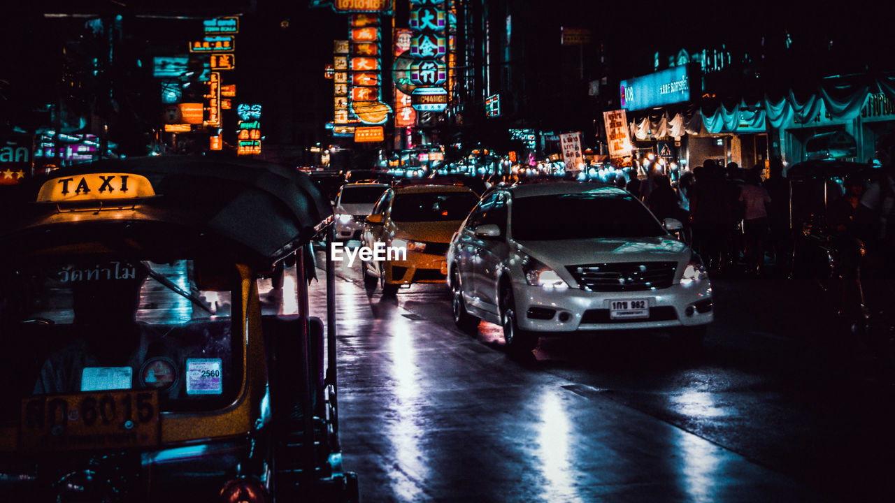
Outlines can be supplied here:
M689 344L712 321L702 261L629 192L540 183L491 192L454 234L447 282L454 320L503 327L509 347L541 335L661 328Z

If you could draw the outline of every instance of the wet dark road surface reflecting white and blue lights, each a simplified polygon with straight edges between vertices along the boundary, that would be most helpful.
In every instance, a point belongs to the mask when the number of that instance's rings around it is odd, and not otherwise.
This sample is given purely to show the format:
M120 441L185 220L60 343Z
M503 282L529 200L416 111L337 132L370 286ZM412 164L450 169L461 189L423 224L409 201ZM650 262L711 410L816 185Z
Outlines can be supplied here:
M619 332L516 358L494 325L454 328L446 286L368 296L359 270L337 309L363 501L895 498L890 374L809 288L715 278L698 351Z

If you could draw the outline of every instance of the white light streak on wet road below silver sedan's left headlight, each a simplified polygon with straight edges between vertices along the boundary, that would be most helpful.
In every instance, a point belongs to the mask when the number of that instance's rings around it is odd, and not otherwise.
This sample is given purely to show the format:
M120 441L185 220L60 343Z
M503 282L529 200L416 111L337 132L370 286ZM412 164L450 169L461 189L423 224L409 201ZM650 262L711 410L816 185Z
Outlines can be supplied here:
M541 396L541 423L538 431L536 465L544 479L541 498L544 501L582 501L575 494L575 467L570 459L572 428L568 411L555 389L545 389Z

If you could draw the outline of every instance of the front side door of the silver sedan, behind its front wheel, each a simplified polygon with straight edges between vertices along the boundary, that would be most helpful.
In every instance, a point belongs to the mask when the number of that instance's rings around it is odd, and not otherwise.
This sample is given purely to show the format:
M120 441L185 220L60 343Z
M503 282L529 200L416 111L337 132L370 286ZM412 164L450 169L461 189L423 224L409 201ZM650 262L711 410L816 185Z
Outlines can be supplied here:
M497 276L500 265L507 258L507 193L495 192L482 201L482 212L474 221L475 227L495 225L498 236L474 235L473 296L477 307L488 311L497 309ZM474 229L473 229L474 233Z

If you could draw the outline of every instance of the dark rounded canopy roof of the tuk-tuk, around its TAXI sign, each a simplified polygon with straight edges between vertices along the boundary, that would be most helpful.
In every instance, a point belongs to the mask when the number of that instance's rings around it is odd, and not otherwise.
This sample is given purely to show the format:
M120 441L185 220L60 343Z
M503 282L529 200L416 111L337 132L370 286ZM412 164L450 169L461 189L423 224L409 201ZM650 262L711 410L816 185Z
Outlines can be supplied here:
M111 205L131 207L124 211L72 212L62 203L37 202L43 183L87 174L141 175L155 195ZM12 244L0 254L16 254L16 249L27 253L29 247L38 246L36 241L52 245L75 243L77 235L93 240L107 236L136 241L143 249L169 247L172 253L174 249L217 253L217 248L220 256L269 265L308 243L317 234L315 226L332 214L307 175L234 158L107 159L64 167L15 189L17 193L0 195L5 207L0 239ZM43 238L45 234L55 238Z

